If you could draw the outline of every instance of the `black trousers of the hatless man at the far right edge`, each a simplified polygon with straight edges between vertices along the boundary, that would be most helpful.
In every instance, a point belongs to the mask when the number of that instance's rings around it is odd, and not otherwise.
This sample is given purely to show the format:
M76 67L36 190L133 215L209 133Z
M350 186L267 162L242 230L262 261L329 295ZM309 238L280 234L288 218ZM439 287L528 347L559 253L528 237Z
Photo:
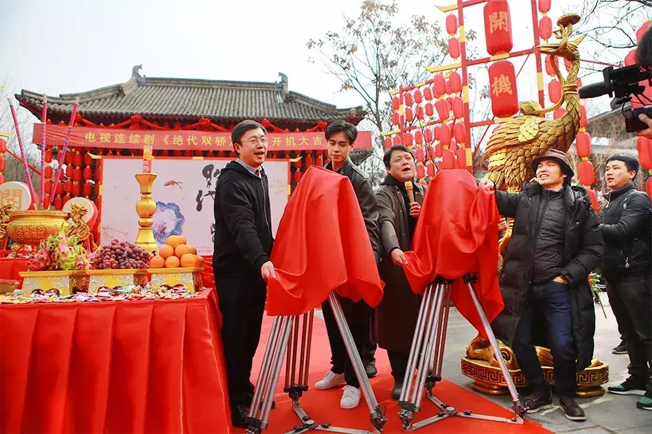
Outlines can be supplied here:
M652 376L652 285L651 276L605 279L618 331L629 354L629 375L644 385Z

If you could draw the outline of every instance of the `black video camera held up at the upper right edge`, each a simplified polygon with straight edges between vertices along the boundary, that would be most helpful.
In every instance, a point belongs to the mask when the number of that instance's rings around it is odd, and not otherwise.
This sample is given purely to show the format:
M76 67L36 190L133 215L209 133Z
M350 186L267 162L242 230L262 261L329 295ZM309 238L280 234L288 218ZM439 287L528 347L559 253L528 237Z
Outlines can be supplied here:
M638 115L643 113L647 117L652 117L652 106L645 106L645 103L640 98L647 99L652 103L646 95L643 95L645 86L641 86L639 82L648 80L652 86L652 71L642 71L638 64L630 65L614 69L614 67L607 67L602 71L605 81L601 83L587 84L579 88L578 93L580 98L595 98L602 95L609 95L609 97L616 96L615 104L622 106L622 116L625 117L625 128L627 132L636 132L645 130L645 125ZM639 96L640 95L640 96ZM632 97L636 97L638 101L643 104L640 108L625 108L625 103L631 101Z

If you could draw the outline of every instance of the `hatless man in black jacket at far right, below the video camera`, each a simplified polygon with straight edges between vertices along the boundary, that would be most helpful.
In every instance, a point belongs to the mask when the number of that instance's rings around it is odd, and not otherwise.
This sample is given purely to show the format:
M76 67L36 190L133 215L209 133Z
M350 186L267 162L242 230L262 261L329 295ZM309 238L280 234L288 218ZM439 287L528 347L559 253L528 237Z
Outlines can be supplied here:
M629 155L607 158L610 193L601 215L605 239L602 272L618 330L629 354L629 378L609 387L613 394L644 395L636 407L652 410L652 204L636 191L638 160Z

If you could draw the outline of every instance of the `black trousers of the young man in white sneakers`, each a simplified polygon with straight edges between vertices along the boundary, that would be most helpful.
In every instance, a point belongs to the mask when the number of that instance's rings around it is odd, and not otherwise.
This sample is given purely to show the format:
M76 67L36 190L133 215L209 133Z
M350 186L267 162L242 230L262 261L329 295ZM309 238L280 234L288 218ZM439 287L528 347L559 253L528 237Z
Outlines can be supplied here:
M371 307L364 301L352 302L340 296L337 296L342 304L342 311L345 313L347 324L351 329L353 341L356 343L356 350L358 354L364 353L364 345L369 342L369 318L371 317ZM347 385L353 387L360 387L356 372L351 365L351 359L347 353L347 348L344 346L340 329L338 328L333 309L328 300L322 303L321 310L324 315L324 322L326 324L326 333L328 334L328 342L331 347L331 371L336 374L344 374ZM364 372L362 372L363 375Z

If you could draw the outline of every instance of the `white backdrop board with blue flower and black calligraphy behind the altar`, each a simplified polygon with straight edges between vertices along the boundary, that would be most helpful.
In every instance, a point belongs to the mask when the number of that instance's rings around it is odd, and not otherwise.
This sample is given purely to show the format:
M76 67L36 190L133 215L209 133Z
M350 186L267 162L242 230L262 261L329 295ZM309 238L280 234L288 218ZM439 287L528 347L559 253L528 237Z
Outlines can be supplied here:
M159 245L170 235L181 234L198 254L213 254L214 191L226 158L190 160L155 158L152 200L156 201L154 237ZM136 202L140 188L136 173L141 173L141 158L102 158L102 210L100 241L117 237L135 241L138 233ZM264 164L270 186L272 234L276 236L283 210L288 203L288 160L267 160Z

